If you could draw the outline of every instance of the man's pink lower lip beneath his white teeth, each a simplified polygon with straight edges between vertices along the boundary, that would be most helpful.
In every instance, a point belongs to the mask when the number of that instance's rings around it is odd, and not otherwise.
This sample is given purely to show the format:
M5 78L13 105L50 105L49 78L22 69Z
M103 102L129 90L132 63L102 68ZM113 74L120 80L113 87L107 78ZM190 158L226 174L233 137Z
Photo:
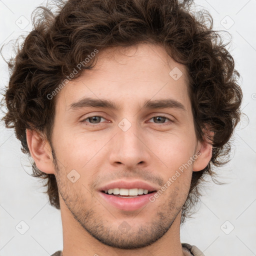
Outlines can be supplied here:
M115 195L106 194L104 192L99 192L100 195L106 200L108 203L113 205L114 207L121 210L136 210L149 202L149 197L153 195L153 193L139 195L133 198L123 198Z

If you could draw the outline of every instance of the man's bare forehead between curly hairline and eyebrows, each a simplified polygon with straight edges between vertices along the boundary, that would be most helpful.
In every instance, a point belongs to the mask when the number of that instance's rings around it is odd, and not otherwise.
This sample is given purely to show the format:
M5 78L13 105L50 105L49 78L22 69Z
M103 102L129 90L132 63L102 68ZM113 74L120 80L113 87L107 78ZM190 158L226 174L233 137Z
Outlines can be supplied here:
M119 109L124 102L172 98L190 104L187 71L157 44L110 47L99 51L96 64L70 80L58 95L65 108L83 97L115 101Z

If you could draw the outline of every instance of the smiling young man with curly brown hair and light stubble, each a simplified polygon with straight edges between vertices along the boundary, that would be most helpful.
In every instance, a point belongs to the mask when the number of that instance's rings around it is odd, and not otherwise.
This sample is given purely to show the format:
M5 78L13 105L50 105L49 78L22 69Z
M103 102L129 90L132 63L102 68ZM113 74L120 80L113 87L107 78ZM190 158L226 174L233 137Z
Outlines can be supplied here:
M190 4L69 0L10 61L3 119L60 208L54 256L203 255L180 223L223 163L242 94Z

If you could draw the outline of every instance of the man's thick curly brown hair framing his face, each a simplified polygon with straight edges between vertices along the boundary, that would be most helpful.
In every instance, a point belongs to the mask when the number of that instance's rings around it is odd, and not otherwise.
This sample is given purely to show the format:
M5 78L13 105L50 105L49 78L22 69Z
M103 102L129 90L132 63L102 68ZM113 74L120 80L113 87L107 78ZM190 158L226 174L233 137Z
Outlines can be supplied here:
M194 171L190 190L182 207L181 223L190 216L191 207L201 195L198 184L205 175L214 179L213 167L226 163L230 137L240 119L242 92L234 60L218 33L212 30L212 17L206 10L192 11L192 0L68 0L58 1L51 9L39 6L33 30L15 58L8 61L11 71L4 92L7 112L2 118L14 128L21 150L29 154L26 129L35 129L50 142L56 96L47 95L61 84L77 63L93 52L110 46L160 43L166 53L188 70L189 97L195 132L202 141L207 137L212 157L202 171ZM94 66L94 59L77 70L73 78ZM32 176L45 179L51 205L60 208L54 174L40 171L32 164ZM218 182L221 183L221 182Z

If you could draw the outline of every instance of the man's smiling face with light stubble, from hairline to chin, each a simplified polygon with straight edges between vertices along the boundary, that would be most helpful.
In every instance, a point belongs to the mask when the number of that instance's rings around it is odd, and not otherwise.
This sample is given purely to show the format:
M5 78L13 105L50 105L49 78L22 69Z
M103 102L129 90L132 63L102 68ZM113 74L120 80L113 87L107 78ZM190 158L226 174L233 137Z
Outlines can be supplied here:
M186 70L152 44L109 48L97 59L57 95L51 144L60 200L97 240L139 248L180 213L200 149ZM123 195L105 194L112 188Z

